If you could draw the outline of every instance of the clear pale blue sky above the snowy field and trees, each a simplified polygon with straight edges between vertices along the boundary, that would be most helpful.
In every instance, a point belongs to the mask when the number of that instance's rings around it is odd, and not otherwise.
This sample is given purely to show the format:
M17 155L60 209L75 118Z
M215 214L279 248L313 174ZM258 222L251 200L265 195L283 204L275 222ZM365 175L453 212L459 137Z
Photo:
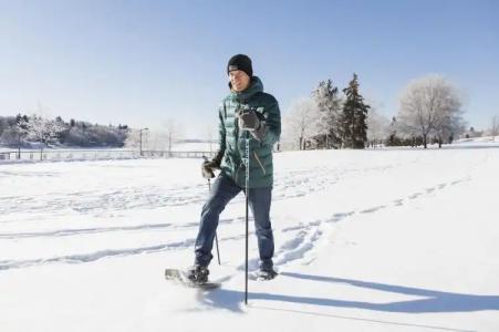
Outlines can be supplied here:
M439 73L465 117L499 115L499 1L0 0L0 115L33 113L159 127L186 136L216 124L236 53L281 104L355 72L396 115L413 79Z

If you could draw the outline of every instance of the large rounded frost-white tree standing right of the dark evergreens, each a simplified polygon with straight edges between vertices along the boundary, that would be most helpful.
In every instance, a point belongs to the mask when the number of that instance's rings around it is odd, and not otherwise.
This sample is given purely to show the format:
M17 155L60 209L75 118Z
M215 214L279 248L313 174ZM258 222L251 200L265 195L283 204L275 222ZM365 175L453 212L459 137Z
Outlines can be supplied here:
M426 148L428 136L440 138L451 134L461 121L461 102L457 90L440 75L427 75L412 81L401 98L397 120L407 135L419 135Z

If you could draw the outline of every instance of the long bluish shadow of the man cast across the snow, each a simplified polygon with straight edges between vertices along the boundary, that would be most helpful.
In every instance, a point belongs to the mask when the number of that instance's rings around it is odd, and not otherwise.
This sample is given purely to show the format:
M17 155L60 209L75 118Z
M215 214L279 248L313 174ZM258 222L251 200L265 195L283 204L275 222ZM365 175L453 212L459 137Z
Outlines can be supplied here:
M285 294L249 292L250 300L270 300L292 302L297 304L313 304L336 308L355 308L384 312L401 313L428 313L428 312L474 312L482 310L499 310L499 295L474 295L450 293L435 290L409 288L377 282L358 281L352 279L341 279L332 277L311 276L302 273L283 272L281 277L289 277L320 282L347 283L352 287L373 289L406 295L424 297L424 299L395 301L391 303L372 303L362 301L334 300L331 298L310 298ZM298 283L297 283L297 287ZM220 289L200 295L199 301L215 308L225 308L233 312L242 312L242 291Z

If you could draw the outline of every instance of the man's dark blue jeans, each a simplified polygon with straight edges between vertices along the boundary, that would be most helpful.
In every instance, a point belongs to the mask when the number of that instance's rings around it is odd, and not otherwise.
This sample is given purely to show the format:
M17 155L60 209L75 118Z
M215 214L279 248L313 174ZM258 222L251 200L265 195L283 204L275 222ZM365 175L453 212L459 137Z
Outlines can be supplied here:
M240 191L245 193L243 188L223 175L219 175L215 180L210 197L201 211L201 221L195 245L196 264L207 267L214 258L211 249L214 247L215 232L220 212ZM257 229L260 269L271 269L273 266L272 257L274 250L272 226L269 216L272 187L250 188L248 200Z

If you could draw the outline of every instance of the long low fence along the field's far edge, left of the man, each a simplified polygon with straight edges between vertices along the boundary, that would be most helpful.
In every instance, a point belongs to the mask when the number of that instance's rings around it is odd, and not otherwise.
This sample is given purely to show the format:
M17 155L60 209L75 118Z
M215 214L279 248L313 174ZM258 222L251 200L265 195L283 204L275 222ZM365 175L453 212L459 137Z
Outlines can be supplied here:
M201 158L212 157L215 152L191 151L126 151L126 149L64 149L64 151L4 151L0 152L0 160L106 160L106 159L136 159L136 158Z

